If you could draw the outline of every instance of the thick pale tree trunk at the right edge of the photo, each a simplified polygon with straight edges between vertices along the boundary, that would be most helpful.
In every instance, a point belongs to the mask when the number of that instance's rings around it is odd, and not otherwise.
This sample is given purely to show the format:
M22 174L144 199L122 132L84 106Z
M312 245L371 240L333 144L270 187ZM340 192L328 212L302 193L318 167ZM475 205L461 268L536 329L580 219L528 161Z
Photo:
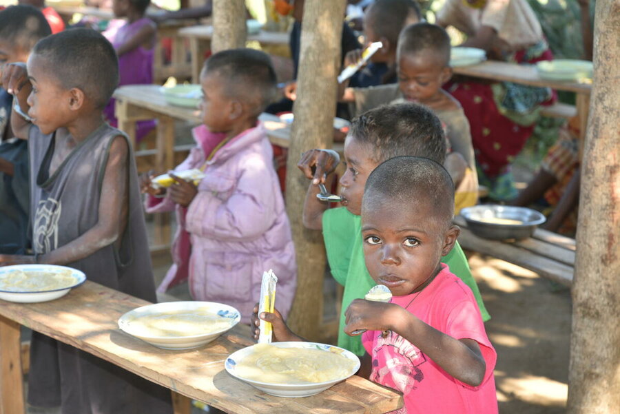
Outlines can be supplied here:
M607 414L620 407L619 0L597 1L594 38L572 286L570 414Z

